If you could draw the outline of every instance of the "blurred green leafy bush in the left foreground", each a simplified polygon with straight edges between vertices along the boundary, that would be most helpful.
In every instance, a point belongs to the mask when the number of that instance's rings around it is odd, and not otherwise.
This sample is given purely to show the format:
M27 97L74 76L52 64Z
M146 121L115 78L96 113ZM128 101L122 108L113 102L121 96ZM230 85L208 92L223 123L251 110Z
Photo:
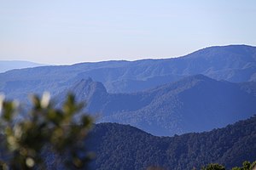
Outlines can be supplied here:
M67 95L61 109L52 105L49 94L33 96L32 109L22 119L17 118L20 115L14 101L0 100L2 169L45 169L45 150L46 154L65 157L68 169L87 166L91 154L85 150L84 138L93 120L86 114L75 120L84 105L72 94Z

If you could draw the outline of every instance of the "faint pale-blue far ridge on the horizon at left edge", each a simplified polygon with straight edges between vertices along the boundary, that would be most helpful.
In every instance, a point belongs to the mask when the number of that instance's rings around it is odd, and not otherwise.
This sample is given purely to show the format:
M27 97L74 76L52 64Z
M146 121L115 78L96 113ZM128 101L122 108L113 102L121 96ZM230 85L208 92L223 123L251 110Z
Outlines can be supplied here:
M43 64L21 60L0 60L0 73L14 69L24 69L36 66L43 66Z

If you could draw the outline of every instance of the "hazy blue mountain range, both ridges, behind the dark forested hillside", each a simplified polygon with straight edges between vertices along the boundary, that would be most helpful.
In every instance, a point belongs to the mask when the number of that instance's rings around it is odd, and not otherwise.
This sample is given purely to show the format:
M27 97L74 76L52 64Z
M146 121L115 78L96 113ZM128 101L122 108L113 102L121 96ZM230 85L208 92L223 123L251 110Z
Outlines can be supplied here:
M255 114L255 61L255 47L231 45L176 59L41 66L1 73L0 92L26 103L27 94L49 91L60 103L71 91L97 122L170 136Z

